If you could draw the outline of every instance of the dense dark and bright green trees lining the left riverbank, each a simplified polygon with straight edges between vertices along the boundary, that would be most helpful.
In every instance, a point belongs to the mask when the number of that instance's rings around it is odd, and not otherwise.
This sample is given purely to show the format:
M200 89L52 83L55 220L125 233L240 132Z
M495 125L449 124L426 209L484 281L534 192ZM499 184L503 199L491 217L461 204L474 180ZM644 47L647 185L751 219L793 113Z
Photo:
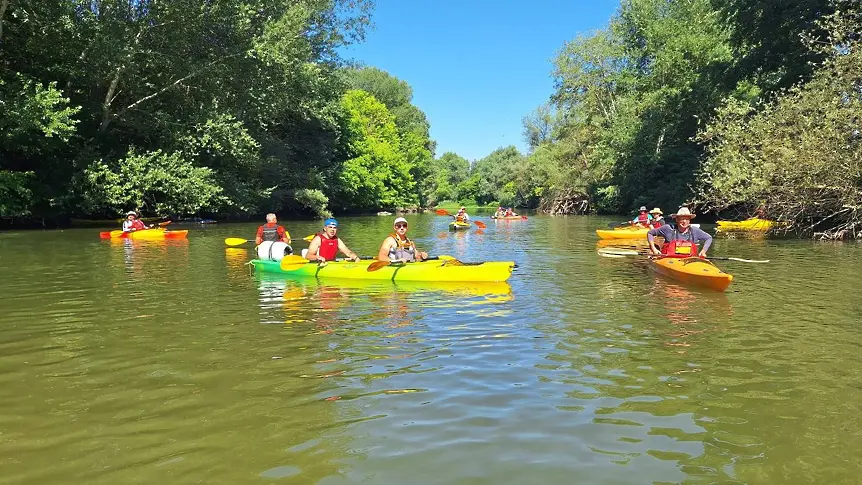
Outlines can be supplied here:
M337 53L369 1L0 5L0 216L425 203L410 87Z

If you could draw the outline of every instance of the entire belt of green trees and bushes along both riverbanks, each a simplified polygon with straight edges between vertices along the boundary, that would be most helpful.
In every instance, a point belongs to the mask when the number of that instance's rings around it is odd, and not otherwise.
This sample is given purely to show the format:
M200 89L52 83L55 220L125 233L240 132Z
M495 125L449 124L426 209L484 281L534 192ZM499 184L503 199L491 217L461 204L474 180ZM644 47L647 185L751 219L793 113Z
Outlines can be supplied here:
M0 0L0 217L686 203L862 231L858 2L622 0L559 50L528 152L475 161L339 57L372 7Z

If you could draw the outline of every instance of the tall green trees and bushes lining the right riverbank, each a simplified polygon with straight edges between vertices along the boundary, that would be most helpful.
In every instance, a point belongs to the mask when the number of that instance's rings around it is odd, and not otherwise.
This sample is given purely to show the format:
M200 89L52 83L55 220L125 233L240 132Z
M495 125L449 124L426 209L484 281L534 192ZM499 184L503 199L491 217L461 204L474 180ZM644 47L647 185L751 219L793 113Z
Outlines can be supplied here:
M566 43L524 119L549 212L694 204L862 231L858 2L624 0ZM530 162L527 162L530 163Z

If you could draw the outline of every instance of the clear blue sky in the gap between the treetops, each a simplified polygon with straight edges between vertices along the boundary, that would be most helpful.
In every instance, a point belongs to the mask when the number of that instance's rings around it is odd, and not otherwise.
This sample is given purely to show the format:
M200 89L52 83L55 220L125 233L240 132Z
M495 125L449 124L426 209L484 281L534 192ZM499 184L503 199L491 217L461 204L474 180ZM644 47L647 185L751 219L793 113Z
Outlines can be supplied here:
M578 33L603 28L618 0L377 0L366 41L345 57L413 87L437 156L476 160L526 150L521 118L551 95L551 61Z

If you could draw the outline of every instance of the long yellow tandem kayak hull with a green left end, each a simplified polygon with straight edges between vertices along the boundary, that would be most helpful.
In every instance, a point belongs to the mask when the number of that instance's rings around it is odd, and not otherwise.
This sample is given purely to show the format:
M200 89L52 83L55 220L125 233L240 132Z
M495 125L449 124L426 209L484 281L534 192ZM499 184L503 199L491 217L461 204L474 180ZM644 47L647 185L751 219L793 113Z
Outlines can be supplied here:
M376 262L374 260L329 261L323 264L310 261L304 264L289 265L287 270L282 269L281 263L278 261L264 259L253 259L251 265L257 271L293 276L433 282L506 281L512 276L512 269L515 267L513 261L462 263L445 256L442 258L417 263L394 264L384 266L377 271L368 271L368 266Z

